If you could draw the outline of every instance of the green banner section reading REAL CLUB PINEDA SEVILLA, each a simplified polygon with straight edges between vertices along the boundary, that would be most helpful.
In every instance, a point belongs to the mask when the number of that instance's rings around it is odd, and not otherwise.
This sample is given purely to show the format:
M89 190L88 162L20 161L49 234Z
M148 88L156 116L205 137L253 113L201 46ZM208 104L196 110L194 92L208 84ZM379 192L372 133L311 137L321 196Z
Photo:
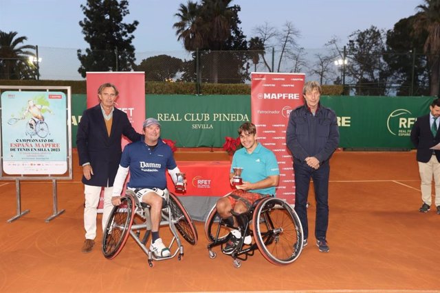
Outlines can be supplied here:
M220 148L225 137L238 136L236 130L251 121L248 95L148 95L148 117L162 125L163 139L184 148Z

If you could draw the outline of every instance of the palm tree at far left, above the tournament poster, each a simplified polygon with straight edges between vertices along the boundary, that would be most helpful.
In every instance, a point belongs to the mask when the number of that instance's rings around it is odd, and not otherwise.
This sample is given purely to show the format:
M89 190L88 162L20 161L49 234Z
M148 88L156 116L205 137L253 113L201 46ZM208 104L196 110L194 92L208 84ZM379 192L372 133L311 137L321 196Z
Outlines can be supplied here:
M30 56L34 56L32 51L28 49L35 49L32 45L22 45L25 36L17 36L17 32L2 32L0 31L0 79L5 80L24 80L33 78L34 67L28 61Z

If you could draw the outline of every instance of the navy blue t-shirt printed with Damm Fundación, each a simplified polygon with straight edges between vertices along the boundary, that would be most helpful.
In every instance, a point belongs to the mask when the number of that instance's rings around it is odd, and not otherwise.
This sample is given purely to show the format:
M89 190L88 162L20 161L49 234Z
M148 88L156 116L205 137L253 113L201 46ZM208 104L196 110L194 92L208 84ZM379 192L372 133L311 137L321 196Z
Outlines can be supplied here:
M177 167L173 151L160 138L153 150L144 141L135 141L126 145L120 165L130 169L127 186L131 188L165 189L166 169Z

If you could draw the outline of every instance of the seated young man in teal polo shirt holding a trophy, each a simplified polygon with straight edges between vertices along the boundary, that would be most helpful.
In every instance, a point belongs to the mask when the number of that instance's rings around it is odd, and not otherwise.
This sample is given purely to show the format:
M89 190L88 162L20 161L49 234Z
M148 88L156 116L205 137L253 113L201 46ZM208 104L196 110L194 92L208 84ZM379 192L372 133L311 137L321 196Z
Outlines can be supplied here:
M216 205L217 213L230 227L239 227L231 210L237 214L245 213L259 198L274 196L280 180L280 170L275 154L256 140L255 125L245 122L240 126L238 132L243 148L237 150L232 157L230 180L232 184L234 167L241 167L243 168L241 172L243 183L235 185L238 190L220 198ZM241 246L241 241L244 244L250 244L252 239L250 235L242 237L240 230L232 229L230 240L225 244L223 253L232 254L236 248Z

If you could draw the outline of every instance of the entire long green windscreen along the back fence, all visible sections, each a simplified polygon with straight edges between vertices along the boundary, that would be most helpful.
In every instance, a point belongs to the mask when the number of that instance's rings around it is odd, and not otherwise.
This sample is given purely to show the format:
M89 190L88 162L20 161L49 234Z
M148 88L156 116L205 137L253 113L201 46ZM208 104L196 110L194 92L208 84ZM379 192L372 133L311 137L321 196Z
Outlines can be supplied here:
M415 119L429 112L434 97L322 96L335 110L340 147L410 149ZM250 95L146 95L146 116L162 124L162 137L179 147L221 147L250 117ZM72 95L72 146L86 108L86 95Z

